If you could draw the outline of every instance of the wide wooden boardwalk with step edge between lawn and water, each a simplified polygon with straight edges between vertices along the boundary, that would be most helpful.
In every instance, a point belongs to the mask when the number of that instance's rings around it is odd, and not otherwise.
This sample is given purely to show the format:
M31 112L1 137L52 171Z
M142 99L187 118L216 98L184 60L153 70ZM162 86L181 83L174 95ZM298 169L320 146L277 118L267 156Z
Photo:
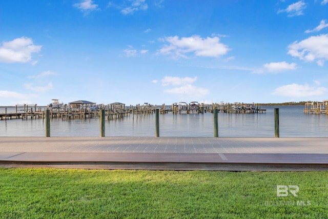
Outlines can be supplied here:
M3 167L328 170L328 138L0 137Z

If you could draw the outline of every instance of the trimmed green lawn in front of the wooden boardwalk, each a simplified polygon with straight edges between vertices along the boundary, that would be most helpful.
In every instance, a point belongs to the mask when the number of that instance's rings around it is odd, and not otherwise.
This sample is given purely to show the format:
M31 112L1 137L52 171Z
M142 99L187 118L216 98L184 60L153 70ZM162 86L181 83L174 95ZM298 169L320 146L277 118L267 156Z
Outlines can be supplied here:
M0 218L328 218L328 172L0 168Z

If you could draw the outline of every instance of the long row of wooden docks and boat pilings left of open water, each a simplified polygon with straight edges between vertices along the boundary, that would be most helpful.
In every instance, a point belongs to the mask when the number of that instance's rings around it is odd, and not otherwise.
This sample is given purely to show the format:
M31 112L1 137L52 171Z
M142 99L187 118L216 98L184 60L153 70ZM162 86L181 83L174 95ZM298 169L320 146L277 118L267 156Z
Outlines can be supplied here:
M92 105L92 106L68 106L49 108L49 107L37 107L37 105L16 105L16 112L0 113L0 120L11 120L13 118L22 118L22 120L45 118L45 109L50 109L51 119L57 120L74 120L74 119L91 119L100 117L100 109L105 110L105 116L107 120L115 120L124 116L138 116L155 113L156 109L159 109L161 114L173 113L173 114L195 114L195 113L213 113L214 109L218 110L218 113L265 113L266 109L261 109L257 104L244 104L244 103L220 103L220 104L203 104L198 102L179 102L170 105L162 104L157 105L140 105L126 106L121 103L113 103L108 105Z

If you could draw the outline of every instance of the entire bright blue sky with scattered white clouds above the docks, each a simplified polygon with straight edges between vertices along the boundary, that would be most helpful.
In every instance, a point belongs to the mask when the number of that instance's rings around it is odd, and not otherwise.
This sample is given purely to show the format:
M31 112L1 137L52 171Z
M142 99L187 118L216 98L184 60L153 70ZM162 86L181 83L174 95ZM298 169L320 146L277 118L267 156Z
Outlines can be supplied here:
M0 3L0 106L328 99L328 0Z

